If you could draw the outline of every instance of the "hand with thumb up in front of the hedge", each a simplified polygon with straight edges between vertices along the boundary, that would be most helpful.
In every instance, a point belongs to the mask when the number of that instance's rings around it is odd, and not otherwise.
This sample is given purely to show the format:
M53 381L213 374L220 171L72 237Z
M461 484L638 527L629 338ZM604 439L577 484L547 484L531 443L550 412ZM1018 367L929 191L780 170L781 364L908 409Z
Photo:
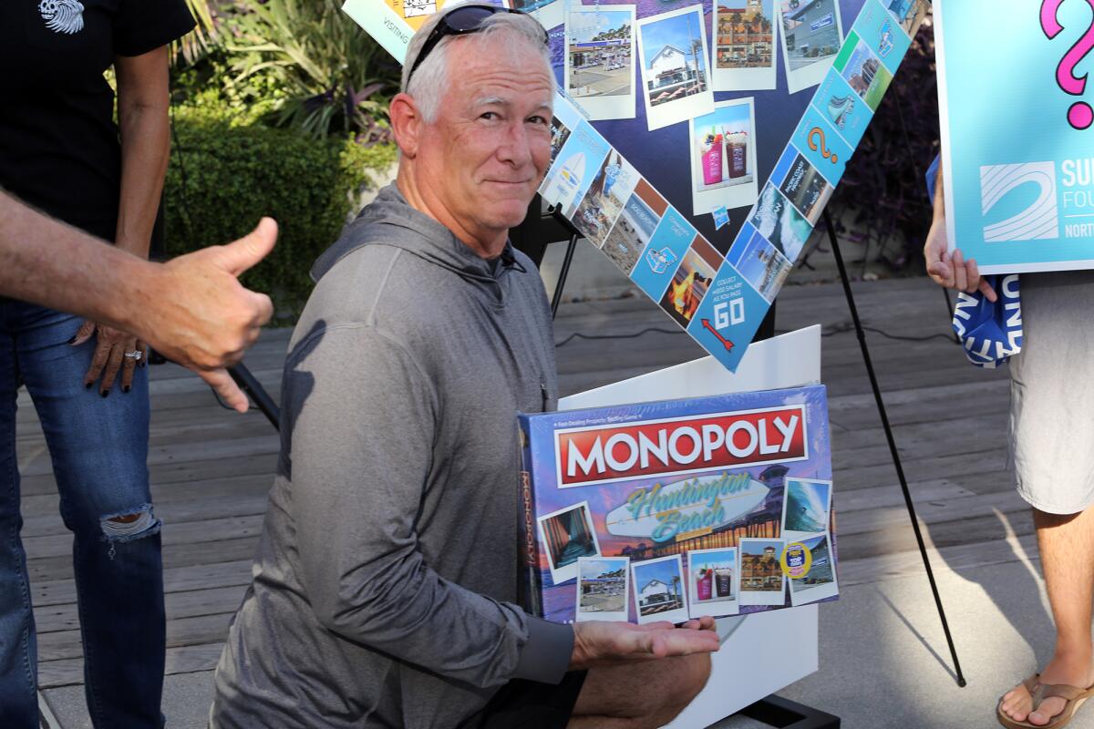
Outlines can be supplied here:
M195 371L240 412L246 412L247 398L224 367L238 362L258 339L274 305L269 296L245 289L237 277L265 258L276 240L277 223L264 217L238 240L158 267L160 274L147 296L154 305L135 315L141 320L137 329L147 332L152 346Z

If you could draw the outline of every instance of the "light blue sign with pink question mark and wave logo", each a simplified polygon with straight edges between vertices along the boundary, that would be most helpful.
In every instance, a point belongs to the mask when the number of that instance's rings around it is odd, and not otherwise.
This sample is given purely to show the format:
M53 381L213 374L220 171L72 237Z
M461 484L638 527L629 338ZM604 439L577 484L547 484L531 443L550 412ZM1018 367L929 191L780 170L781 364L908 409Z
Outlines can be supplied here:
M986 273L1094 268L1091 5L938 0L934 16L951 245Z

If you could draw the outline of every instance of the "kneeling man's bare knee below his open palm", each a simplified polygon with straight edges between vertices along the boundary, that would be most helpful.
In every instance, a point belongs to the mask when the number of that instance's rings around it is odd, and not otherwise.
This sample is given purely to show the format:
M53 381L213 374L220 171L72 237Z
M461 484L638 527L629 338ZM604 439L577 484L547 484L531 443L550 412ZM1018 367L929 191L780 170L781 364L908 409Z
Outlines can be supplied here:
M568 727L663 727L691 703L709 678L707 655L591 669Z

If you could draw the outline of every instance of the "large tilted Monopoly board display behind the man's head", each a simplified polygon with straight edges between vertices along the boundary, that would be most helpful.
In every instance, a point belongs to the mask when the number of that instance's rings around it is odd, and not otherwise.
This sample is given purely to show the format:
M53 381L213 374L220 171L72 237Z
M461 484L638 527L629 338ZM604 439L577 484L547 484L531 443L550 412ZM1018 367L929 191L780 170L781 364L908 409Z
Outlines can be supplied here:
M929 3L493 2L550 36L544 199L735 371ZM441 8L345 5L400 61L423 12Z

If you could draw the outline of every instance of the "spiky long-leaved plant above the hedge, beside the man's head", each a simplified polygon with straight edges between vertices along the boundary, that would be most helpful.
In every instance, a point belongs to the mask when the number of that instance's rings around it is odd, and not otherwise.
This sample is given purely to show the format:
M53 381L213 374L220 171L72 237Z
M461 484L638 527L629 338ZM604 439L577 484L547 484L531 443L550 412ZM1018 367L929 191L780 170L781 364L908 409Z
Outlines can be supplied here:
M242 95L272 82L274 121L318 137L391 141L386 124L398 66L336 0L236 0L224 16L230 85Z

